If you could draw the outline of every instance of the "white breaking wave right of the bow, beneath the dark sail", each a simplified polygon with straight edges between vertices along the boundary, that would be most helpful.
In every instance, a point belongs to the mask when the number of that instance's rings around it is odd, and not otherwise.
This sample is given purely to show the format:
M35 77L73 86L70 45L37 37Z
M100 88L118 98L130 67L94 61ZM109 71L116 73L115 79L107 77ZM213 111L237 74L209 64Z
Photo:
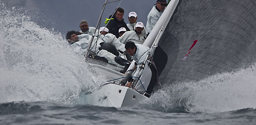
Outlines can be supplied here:
M146 108L163 112L216 113L256 108L256 64L219 73L200 81L165 86L154 93Z

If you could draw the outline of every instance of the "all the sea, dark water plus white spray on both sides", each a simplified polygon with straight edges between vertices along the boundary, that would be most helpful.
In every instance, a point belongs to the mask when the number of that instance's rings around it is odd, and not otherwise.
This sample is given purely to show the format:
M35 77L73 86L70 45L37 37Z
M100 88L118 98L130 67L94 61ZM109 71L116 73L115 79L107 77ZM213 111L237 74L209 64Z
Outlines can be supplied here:
M83 95L104 74L72 53L60 33L0 7L0 124L256 124L255 64L166 84L133 107L91 106Z

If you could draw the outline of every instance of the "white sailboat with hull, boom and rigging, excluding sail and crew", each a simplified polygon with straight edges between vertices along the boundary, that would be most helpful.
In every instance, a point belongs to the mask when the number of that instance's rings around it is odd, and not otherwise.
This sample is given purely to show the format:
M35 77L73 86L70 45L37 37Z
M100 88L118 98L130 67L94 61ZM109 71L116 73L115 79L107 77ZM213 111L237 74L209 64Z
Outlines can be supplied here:
M107 2L108 1L106 0L105 4ZM126 73L122 74L119 72L120 68L115 67L111 64L100 63L90 58L86 59L89 65L94 67L95 70L100 70L102 73L106 74L106 78L108 79L108 82L103 84L100 89L95 90L91 94L88 94L86 96L87 102L90 102L91 105L95 106L119 108L135 105L150 97L150 95L148 95L146 92L139 92L136 88L138 86L143 86L143 84L150 82L151 80L152 72L148 66L148 63L152 63L154 59L160 59L161 61L158 61L160 63L156 64L156 67L160 67L161 69L163 69L164 66L166 65L167 61L164 60L167 60L165 59L167 58L167 56L164 56L164 52L161 51L161 48L160 46L158 46L158 43L178 3L179 0L172 0L169 2L163 14L157 21L155 27L148 35L148 37L145 39L143 45L150 47L150 49L148 49L148 55L147 58L144 60L144 63L140 66L139 69L137 69L137 73L133 75L135 81L132 83L131 87L125 86L121 84L121 82L127 82L126 74L131 74L131 72L129 71L131 69L134 69L134 61L129 66ZM102 12L104 10L104 7L105 6L103 6ZM99 20L101 19L102 12L100 14ZM99 21L97 23L96 28L98 27L98 24ZM91 46L91 44L89 44L89 46ZM86 54L85 57L87 56L88 54ZM161 69L158 70L158 74L160 74Z

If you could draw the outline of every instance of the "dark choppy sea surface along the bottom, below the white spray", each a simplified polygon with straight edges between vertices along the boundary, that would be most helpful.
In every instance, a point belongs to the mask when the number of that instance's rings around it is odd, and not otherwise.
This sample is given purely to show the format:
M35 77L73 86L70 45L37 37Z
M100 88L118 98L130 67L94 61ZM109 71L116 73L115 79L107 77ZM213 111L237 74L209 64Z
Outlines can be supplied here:
M255 124L256 110L166 113L125 108L19 102L0 105L1 124Z

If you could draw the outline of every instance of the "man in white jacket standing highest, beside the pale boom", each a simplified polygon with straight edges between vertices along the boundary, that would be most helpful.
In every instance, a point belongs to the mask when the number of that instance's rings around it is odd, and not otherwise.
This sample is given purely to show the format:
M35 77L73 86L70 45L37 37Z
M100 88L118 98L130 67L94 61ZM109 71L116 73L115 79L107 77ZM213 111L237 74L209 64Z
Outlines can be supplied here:
M167 6L166 0L157 0L156 5L151 9L147 15L146 30L150 33L162 15L165 7Z

